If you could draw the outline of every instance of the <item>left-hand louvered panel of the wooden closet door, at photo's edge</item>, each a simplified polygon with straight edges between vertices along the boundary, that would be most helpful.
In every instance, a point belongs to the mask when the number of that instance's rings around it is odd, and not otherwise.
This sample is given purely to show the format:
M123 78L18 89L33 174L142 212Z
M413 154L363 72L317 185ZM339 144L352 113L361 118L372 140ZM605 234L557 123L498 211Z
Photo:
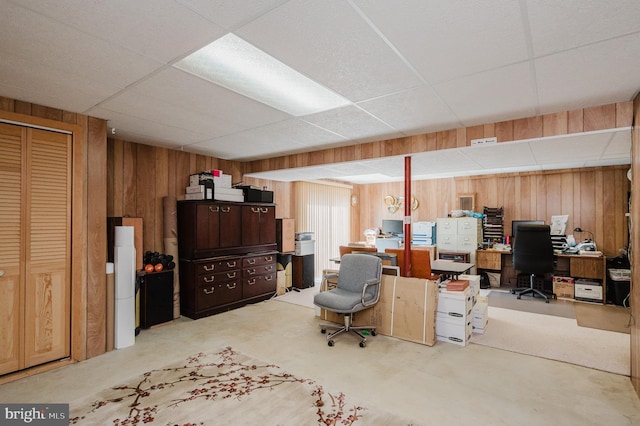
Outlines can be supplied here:
M0 124L0 374L24 366L21 194L25 137L26 129Z

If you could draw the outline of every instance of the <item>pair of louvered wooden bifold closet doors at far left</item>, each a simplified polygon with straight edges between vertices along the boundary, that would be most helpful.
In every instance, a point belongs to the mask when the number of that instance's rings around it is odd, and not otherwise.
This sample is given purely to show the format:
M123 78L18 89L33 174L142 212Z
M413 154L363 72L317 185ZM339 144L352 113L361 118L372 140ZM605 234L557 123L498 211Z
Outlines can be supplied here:
M0 374L70 355L71 136L0 124Z

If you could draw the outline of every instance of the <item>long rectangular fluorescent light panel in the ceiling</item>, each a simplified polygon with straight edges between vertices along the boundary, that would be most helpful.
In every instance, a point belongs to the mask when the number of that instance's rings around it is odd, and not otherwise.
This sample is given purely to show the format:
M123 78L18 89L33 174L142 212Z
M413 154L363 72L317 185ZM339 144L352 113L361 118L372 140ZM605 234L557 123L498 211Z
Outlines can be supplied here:
M232 33L174 67L294 116L351 103Z

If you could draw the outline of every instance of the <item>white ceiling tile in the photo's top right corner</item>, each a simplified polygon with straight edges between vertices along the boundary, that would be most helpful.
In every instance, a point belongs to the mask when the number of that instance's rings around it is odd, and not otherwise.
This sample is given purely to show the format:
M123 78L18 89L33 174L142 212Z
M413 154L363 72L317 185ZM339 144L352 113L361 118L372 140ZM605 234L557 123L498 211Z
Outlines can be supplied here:
M640 30L637 0L529 0L527 10L535 56Z

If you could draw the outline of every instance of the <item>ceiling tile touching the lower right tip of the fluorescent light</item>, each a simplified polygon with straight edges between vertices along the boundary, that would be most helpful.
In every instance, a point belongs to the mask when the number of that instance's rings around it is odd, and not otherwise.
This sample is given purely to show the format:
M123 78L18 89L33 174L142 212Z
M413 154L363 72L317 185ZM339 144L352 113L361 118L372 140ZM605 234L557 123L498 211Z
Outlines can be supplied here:
M461 126L458 118L433 89L424 85L360 102L358 106L393 128L410 135Z

